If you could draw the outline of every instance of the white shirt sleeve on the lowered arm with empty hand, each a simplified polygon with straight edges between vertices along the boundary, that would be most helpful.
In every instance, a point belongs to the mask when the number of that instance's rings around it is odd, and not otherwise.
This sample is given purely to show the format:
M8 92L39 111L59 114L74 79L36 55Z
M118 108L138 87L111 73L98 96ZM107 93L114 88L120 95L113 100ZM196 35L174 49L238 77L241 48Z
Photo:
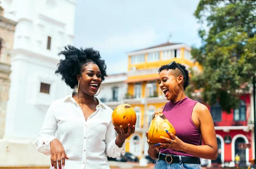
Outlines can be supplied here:
M56 130L57 121L54 117L54 106L52 104L45 115L42 129L39 133L37 141L35 142L38 152L41 152L45 155L50 154L50 142L56 138Z

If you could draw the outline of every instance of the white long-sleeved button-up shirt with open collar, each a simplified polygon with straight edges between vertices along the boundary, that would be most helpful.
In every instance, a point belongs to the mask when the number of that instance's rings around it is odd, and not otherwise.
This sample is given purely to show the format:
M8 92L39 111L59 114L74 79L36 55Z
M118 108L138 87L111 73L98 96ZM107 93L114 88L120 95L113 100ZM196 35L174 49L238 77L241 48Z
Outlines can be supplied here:
M72 95L54 101L35 143L37 150L49 155L50 141L57 138L69 157L62 169L109 169L106 155L113 158L124 155L125 144L121 148L116 145L113 110L97 100L96 111L87 121Z

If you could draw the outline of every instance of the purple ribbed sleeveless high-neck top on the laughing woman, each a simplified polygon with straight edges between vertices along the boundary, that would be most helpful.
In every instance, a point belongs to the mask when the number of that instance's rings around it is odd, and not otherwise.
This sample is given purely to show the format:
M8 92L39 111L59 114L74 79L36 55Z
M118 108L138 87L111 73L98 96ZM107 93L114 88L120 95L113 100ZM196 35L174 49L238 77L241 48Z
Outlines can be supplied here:
M191 119L192 111L197 101L189 99L187 96L177 102L168 102L163 108L163 114L169 120L176 130L176 135L183 142L193 145L199 145L201 141L201 132ZM178 156L191 156L185 152L173 149L161 148L160 153L173 154Z

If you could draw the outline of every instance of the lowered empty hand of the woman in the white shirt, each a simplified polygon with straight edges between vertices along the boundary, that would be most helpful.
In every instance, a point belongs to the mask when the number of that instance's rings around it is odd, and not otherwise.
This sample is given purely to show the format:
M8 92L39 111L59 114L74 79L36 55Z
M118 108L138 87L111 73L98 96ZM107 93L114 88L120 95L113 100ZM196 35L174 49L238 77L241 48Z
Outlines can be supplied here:
M59 139L53 139L50 142L50 154L51 154L51 164L52 166L54 166L55 169L57 169L57 165L59 166L59 169L61 169L61 160L62 160L62 166L64 167L65 159L69 159Z

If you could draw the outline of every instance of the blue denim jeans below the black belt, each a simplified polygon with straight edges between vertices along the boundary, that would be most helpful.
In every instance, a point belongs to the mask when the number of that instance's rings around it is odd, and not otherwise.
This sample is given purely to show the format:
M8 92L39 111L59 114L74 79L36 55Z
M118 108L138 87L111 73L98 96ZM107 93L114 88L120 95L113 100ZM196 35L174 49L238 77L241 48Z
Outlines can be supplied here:
M163 160L155 160L154 169L202 169L200 164L171 163Z

